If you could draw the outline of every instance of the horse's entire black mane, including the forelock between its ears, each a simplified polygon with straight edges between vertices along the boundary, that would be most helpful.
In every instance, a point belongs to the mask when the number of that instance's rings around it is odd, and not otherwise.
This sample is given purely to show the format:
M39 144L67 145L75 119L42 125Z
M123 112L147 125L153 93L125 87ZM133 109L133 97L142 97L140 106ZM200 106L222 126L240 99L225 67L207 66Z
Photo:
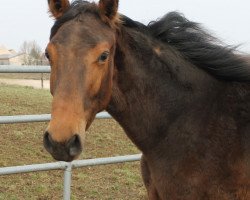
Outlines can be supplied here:
M65 22L78 15L91 12L99 15L96 4L84 0L74 1L69 10L51 29L50 38ZM235 47L223 45L195 22L178 12L170 12L148 26L121 15L122 25L137 29L164 43L168 43L197 67L215 77L228 81L250 81L250 64L237 54Z

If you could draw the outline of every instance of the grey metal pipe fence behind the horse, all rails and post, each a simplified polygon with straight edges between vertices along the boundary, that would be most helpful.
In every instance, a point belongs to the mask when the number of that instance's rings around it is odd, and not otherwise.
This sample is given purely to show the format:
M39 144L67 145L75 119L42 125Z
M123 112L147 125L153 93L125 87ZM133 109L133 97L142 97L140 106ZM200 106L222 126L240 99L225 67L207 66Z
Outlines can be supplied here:
M49 66L0 66L0 73L50 73ZM0 116L0 124L13 124L13 123L28 123L28 122L46 122L51 118L50 114L43 115L19 115L19 116ZM111 116L102 112L97 114L98 119L107 119ZM0 175L10 175L18 173L49 171L49 170L64 170L64 187L63 187L63 199L70 200L70 187L71 187L71 174L72 169L95 166L95 165L107 165L123 162L139 161L141 154L117 156L108 158L96 158L87 160L76 160L73 162L54 162L44 164L34 164L25 166L11 166L0 168Z

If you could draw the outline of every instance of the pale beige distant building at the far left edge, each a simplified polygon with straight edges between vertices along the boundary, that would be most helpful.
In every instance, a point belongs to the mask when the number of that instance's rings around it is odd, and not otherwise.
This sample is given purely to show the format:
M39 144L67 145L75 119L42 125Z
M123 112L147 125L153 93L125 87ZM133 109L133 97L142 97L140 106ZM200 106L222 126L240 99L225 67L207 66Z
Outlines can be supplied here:
M13 49L0 46L0 65L23 65L24 53L16 53Z

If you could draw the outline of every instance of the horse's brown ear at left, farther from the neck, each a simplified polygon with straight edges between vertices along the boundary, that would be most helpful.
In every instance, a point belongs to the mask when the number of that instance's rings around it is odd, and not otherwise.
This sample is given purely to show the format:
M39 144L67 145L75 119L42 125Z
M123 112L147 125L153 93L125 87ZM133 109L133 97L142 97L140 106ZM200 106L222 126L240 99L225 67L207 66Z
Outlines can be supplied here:
M68 0L48 0L49 12L55 19L60 18L69 8Z

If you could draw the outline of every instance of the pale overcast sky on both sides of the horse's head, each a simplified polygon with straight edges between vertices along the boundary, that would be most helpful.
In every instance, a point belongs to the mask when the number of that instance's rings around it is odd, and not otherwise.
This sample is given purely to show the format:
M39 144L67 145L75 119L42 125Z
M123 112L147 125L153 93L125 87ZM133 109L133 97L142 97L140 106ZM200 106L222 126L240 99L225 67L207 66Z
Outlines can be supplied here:
M47 0L0 2L0 45L18 51L25 40L35 40L45 49L53 24ZM146 24L170 11L183 13L227 44L241 44L240 50L250 53L250 0L120 0L120 13Z

